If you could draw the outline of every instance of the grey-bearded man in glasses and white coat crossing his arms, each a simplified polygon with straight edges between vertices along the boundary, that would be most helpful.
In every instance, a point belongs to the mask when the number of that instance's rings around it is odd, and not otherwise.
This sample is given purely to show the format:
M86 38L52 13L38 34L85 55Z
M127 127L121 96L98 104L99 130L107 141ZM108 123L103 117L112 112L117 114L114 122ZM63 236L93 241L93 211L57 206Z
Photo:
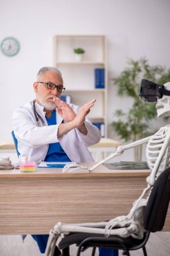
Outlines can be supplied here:
M28 161L93 162L87 148L101 139L97 127L85 119L95 99L78 107L60 100L64 92L62 75L55 67L38 71L34 91L36 100L17 108L13 113L13 131L21 156ZM48 235L32 235L41 253ZM56 247L55 255L59 255Z

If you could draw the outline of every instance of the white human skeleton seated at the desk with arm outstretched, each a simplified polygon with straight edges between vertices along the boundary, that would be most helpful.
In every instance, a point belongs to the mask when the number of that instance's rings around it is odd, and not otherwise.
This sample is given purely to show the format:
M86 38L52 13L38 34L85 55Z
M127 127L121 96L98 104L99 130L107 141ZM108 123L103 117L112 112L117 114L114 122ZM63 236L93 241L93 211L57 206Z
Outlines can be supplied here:
M164 85L166 90L170 90L170 82ZM157 98L157 117L169 117L170 116L170 96L163 95L162 98ZM63 172L87 169L89 172L94 170L97 166L106 162L107 160L121 155L124 150L134 148L136 146L147 143L146 146L146 160L148 167L151 170L151 174L146 178L147 187L142 191L142 195L134 201L132 208L127 216L118 216L108 222L97 223L83 223L83 224L62 224L58 222L52 230L50 230L50 236L48 238L48 245L46 248L46 256L52 256L56 241L61 234L67 234L69 232L87 232L94 234L104 234L105 236L118 235L122 237L132 236L134 238L141 239L144 234L144 227L142 225L142 219L144 209L148 201L149 195L144 199L144 195L151 191L155 180L159 177L159 174L170 166L170 125L161 127L157 133L150 137L134 141L126 146L119 146L113 154L110 154L101 162L94 164L90 168L79 165L77 163L71 163L65 166ZM115 228L115 229L114 229Z

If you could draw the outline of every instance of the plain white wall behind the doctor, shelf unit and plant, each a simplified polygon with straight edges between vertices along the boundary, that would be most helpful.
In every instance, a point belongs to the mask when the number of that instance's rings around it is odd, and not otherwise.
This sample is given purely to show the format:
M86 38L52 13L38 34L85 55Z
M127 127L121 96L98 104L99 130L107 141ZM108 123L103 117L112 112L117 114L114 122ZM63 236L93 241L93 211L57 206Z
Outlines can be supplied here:
M21 44L15 57L0 53L0 142L11 141L11 116L34 98L32 84L40 67L52 65L54 34L108 36L109 110L129 100L116 96L112 77L128 58L146 57L151 65L170 66L169 0L1 0L0 40L14 36ZM109 129L109 137L116 139ZM117 138L118 139L118 138Z

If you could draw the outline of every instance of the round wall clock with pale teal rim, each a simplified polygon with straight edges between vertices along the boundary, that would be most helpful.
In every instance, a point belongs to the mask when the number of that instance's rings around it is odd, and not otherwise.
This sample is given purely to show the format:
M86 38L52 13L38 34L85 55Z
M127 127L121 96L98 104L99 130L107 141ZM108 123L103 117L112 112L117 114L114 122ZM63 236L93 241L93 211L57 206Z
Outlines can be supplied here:
M7 37L1 42L1 51L8 57L16 55L19 51L19 42L13 37Z

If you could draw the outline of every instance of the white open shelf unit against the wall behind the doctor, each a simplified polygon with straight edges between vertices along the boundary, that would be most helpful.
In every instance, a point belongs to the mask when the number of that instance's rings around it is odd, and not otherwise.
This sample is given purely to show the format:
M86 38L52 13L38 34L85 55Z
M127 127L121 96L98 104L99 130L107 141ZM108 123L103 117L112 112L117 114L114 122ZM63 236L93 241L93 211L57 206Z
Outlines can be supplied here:
M103 137L107 137L107 46L104 35L56 35L53 38L54 67L62 72L63 95L71 96L71 102L82 106L96 98L88 119L101 124ZM83 48L83 60L77 61L74 49ZM104 88L96 88L95 70L104 69Z

